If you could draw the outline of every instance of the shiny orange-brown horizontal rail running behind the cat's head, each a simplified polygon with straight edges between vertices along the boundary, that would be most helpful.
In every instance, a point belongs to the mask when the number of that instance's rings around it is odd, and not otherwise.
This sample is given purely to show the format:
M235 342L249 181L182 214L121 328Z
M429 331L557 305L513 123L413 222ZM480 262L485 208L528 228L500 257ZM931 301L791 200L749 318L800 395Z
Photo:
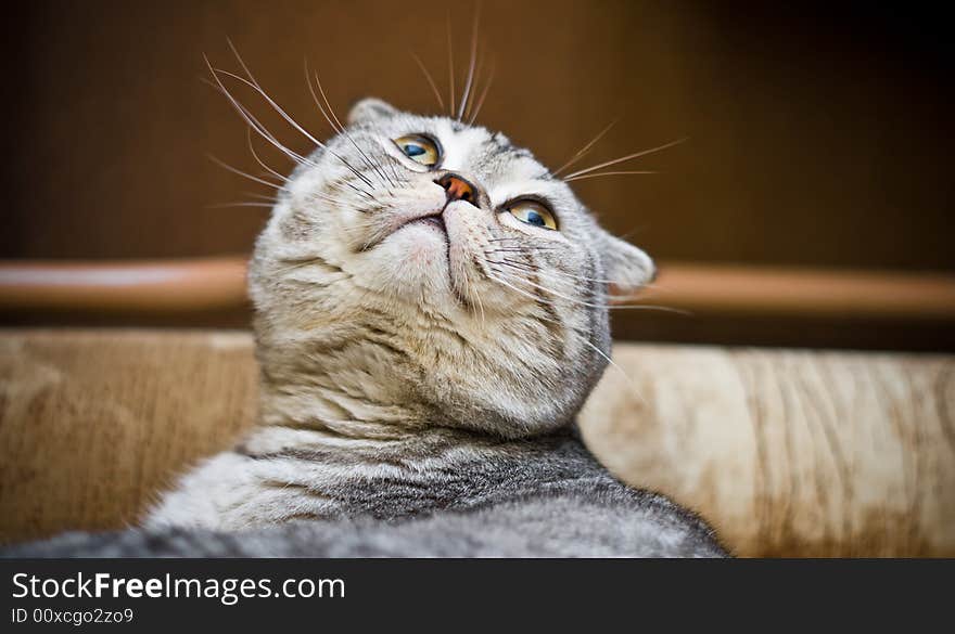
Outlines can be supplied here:
M631 300L699 314L813 315L955 322L955 275L662 263ZM156 261L0 262L0 310L150 312L241 308L243 257Z

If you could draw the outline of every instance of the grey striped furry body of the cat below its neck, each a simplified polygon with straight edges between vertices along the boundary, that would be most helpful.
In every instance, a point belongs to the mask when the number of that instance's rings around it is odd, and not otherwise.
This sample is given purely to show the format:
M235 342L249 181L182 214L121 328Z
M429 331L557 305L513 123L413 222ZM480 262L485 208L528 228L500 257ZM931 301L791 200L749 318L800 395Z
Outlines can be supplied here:
M431 448L423 453L424 445ZM13 556L94 557L720 557L699 518L665 497L612 478L575 434L533 441L444 438L404 457L348 452L259 456L222 454L189 476L166 505L194 515L176 525L106 534L67 534L15 549ZM398 455L394 454L394 455ZM221 461L220 465L216 465ZM227 463L233 464L227 464ZM217 469L224 469L216 474ZM318 474L326 471L324 476ZM275 487L225 489L231 508L211 513L217 493L200 499L202 479L258 473ZM289 474L294 474L290 478ZM349 474L341 477L342 474ZM279 486L292 480L295 483ZM267 480L264 480L267 481ZM305 490L301 482L311 482ZM323 484L322 484L323 482ZM196 488L196 489L193 489ZM284 490L284 491L283 491ZM243 499L242 494L250 496ZM273 493L279 499L264 500ZM232 495L234 494L234 495ZM177 496L184 497L180 505ZM187 503L188 500L188 503ZM199 505L196 507L195 505ZM265 509L278 515L263 517ZM313 517L324 519L316 521ZM160 509L160 515L164 510ZM217 526L213 526L213 523ZM243 526L244 525L244 526ZM251 528L258 527L258 528ZM244 530L240 530L243 529ZM211 530L217 529L217 530Z

